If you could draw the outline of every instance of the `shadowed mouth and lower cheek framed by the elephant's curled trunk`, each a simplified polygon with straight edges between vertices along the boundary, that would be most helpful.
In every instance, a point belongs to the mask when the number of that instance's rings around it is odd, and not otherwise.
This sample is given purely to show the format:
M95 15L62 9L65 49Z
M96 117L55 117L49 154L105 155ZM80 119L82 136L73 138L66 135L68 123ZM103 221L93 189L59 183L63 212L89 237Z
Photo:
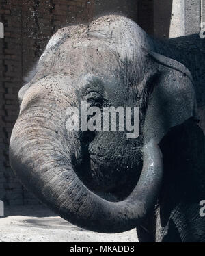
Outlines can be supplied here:
M103 139L100 138L100 141ZM126 150L115 145L118 151L109 144L102 154L101 148L98 149L99 143L92 142L83 147L80 157L74 159L74 171L87 188L103 199L122 201L137 185L143 165L141 138L129 144Z

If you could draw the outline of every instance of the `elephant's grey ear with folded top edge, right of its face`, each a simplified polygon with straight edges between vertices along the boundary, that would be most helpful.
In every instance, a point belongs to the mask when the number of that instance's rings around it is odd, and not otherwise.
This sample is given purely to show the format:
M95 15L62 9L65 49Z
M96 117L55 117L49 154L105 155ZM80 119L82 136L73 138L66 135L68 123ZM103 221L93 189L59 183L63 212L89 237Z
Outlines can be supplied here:
M157 143L171 127L195 118L196 99L190 71L180 62L150 52L160 75L150 93L143 123L145 143L154 138Z

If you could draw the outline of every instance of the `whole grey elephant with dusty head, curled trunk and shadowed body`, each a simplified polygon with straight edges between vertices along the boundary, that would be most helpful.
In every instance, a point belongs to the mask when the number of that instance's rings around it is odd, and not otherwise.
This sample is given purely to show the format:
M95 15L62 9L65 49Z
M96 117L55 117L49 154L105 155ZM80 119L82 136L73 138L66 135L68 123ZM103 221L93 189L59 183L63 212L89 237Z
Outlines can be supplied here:
M152 38L117 14L59 29L18 93L10 164L21 183L84 229L205 242L203 45ZM69 130L82 101L139 107L139 136Z

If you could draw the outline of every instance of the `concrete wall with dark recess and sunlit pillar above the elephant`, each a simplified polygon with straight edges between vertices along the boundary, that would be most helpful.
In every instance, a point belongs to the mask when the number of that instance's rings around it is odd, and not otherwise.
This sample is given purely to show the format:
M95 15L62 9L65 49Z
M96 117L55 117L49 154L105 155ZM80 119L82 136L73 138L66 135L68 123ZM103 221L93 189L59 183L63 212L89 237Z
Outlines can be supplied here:
M174 38L199 33L204 10L204 0L97 0L95 2L95 14L107 12L125 14L156 38Z

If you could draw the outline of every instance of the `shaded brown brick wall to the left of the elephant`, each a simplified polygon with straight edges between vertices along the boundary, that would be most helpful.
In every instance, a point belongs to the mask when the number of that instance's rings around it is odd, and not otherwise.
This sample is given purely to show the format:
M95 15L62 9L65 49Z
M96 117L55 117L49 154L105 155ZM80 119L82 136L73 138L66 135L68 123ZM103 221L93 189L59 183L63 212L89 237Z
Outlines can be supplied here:
M93 8L94 0L0 0L5 26L0 39L0 200L5 205L37 203L16 179L8 159L23 77L59 27L90 20Z

